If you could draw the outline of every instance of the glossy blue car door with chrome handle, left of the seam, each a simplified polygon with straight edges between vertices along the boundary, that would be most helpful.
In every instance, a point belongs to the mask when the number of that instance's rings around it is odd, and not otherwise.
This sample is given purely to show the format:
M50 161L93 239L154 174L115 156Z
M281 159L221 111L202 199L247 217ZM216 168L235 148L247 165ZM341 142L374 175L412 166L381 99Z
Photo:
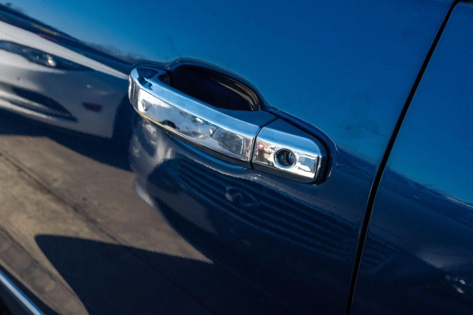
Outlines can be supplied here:
M345 314L452 5L2 4L4 285L49 314Z

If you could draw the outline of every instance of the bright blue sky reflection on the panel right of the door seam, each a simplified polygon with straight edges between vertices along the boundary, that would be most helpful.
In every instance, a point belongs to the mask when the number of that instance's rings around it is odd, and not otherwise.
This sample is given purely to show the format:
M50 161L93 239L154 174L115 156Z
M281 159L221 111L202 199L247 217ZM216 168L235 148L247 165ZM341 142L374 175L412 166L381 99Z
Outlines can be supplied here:
M460 9L462 7L470 8ZM403 175L473 204L473 6L453 11L389 159Z

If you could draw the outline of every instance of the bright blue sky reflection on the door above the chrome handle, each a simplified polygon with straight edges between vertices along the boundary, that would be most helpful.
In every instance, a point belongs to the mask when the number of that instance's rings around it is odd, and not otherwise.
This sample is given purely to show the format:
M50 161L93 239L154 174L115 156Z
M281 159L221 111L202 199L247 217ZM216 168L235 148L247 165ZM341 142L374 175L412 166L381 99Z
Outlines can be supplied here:
M153 61L187 57L229 68L272 106L378 161L450 6L405 2L23 0L14 6L88 43Z

